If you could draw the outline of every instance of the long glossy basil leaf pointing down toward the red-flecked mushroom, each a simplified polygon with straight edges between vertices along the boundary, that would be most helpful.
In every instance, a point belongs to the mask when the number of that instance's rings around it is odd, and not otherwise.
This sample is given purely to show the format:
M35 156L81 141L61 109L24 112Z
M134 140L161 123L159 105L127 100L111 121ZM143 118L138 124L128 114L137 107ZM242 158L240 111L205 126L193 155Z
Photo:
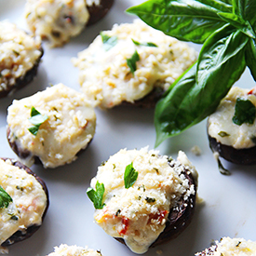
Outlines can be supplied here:
M222 98L244 72L246 35L229 26L209 37L197 64L176 80L155 107L158 146L215 111Z

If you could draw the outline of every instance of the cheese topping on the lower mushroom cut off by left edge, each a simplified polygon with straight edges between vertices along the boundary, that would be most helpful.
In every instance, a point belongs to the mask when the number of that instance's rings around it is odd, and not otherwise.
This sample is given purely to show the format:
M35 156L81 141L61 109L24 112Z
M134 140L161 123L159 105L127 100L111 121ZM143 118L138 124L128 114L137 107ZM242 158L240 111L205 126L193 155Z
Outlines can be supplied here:
M26 170L14 167L10 160L0 159L0 185L13 202L0 209L0 244L18 230L40 225L47 207L42 185Z

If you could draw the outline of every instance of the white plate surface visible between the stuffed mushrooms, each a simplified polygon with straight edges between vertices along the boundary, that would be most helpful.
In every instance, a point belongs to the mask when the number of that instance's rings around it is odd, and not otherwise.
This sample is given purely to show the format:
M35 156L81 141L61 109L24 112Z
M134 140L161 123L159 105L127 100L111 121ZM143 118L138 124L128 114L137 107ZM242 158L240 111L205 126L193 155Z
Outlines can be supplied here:
M0 100L0 156L14 157L7 138L7 107L14 99L20 99L43 90L49 83L63 83L80 90L78 71L70 59L92 42L102 30L111 29L114 23L129 22L135 17L124 11L142 0L115 0L108 15L97 24L72 39L65 47L45 48L38 75L26 88ZM27 30L23 17L24 0L0 0L1 20L10 20ZM198 48L198 46L195 46ZM254 81L249 71L236 83L251 88ZM136 255L126 246L108 236L93 222L93 205L86 194L90 179L97 167L121 148L154 148L154 110L116 108L97 112L96 135L88 149L72 164L56 169L44 169L34 165L34 170L46 183L50 195L50 207L42 227L29 239L9 247L9 256L46 256L61 243L90 249L100 249L103 256ZM191 149L199 146L202 154L196 156ZM168 244L149 249L147 256L189 256L209 247L212 240L222 236L244 237L256 240L256 167L236 166L223 161L231 176L219 173L209 150L206 121L189 128L181 135L164 141L158 147L160 154L176 158L184 151L199 173L198 195L203 203L197 205L190 226Z

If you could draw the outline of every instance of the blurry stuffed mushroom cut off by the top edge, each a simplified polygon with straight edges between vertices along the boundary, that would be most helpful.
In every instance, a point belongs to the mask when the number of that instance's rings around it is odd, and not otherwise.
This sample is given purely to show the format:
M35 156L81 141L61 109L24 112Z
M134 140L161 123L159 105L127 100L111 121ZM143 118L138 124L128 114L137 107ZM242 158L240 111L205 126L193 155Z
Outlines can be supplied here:
M27 0L25 18L30 30L61 47L87 25L101 20L114 0Z

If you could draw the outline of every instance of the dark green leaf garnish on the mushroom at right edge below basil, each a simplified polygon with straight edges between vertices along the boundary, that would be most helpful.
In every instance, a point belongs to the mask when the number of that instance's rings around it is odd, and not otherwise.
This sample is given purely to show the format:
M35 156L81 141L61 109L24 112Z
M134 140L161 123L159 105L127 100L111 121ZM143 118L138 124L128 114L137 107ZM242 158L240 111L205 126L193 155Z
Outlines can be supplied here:
M241 126L244 123L252 125L256 117L256 107L249 100L243 100L237 98L235 106L235 115L232 121L237 126Z

